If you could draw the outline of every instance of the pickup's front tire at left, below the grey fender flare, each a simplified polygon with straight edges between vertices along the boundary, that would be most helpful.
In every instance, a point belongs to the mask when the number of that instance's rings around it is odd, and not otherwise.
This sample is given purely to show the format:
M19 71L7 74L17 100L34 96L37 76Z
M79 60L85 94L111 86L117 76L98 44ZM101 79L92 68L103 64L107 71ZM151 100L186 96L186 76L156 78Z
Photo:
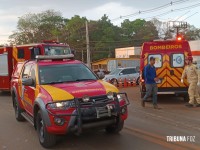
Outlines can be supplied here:
M44 148L51 148L56 145L56 135L47 132L46 125L40 111L38 111L36 116L36 128L40 144Z

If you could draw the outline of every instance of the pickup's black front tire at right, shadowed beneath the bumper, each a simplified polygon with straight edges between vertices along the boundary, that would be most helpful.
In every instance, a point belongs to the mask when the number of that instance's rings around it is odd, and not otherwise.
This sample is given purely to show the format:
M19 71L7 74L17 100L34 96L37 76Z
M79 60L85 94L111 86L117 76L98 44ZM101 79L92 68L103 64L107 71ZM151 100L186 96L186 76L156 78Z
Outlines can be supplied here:
M115 125L106 127L106 132L116 134L119 133L123 129L123 127L124 127L124 121L119 121Z

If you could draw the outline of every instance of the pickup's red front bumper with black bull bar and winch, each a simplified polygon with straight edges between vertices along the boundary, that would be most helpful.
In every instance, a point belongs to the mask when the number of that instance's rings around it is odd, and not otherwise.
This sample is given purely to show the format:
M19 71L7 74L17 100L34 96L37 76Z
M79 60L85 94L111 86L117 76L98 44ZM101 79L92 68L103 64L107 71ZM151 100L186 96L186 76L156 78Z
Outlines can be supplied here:
M47 131L52 134L66 134L68 132L80 134L84 129L105 128L119 120L127 119L127 105L130 102L126 93L119 94L124 95L126 100L119 101L118 97L115 96L113 100L105 103L90 105L89 102L88 104L81 104L78 99L75 99L76 107L69 113L55 114L48 110L51 126L47 126ZM113 109L108 109L108 106L113 106ZM55 118L63 119L64 124L61 126L56 125Z

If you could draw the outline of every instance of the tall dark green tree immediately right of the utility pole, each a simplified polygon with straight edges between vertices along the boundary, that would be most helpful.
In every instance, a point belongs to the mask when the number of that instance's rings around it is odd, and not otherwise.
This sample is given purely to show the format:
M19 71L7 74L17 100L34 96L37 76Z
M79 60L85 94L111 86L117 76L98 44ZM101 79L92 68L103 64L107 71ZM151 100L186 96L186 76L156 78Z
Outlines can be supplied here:
M89 26L93 60L114 57L115 47L119 44L120 28L114 26L108 16L91 21Z

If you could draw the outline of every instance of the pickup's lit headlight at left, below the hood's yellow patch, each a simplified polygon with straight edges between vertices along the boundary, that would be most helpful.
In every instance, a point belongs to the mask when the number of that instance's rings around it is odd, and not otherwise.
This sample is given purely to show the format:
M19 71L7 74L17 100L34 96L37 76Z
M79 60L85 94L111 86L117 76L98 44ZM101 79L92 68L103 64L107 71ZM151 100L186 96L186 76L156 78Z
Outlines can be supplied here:
M67 109L69 107L73 107L72 101L63 101L63 102L56 102L48 104L50 109Z

